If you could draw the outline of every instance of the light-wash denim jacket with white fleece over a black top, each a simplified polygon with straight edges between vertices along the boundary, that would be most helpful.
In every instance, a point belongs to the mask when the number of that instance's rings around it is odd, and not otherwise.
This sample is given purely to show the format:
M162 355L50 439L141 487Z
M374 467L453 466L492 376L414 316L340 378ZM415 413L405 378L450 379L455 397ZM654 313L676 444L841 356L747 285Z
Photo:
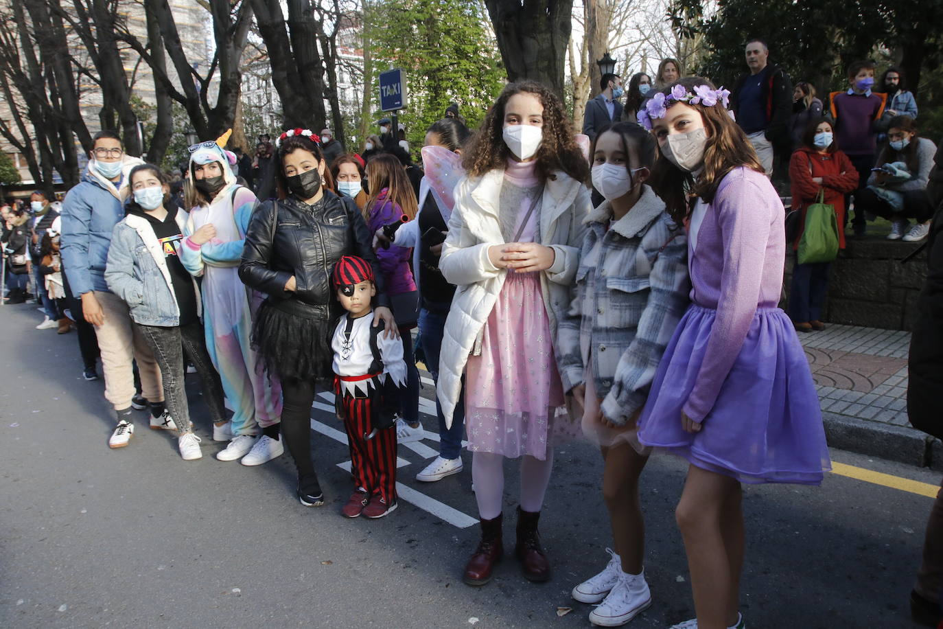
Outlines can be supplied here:
M177 210L176 223L183 233L187 212ZM105 270L108 289L121 297L131 310L131 319L141 325L175 327L180 324L174 282L154 229L141 216L128 214L115 225ZM201 300L196 280L198 314ZM144 299L147 295L147 299Z

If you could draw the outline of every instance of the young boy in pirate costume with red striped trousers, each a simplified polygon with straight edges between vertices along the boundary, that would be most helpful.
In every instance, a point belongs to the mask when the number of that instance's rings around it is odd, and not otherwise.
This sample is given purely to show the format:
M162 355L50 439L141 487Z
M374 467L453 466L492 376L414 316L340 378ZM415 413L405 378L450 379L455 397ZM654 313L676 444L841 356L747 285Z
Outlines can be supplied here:
M351 473L356 488L341 514L382 518L396 508L396 431L393 415L399 408L399 389L405 387L406 365L400 339L374 327L371 265L363 258L344 256L332 276L340 318L331 341L334 350L335 406L347 429Z

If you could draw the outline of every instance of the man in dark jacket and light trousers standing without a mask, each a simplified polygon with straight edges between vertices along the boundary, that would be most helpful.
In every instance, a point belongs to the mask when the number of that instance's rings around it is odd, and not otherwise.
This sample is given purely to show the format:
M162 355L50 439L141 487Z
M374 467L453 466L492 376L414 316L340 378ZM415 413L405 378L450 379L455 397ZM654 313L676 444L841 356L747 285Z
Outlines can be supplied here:
M766 41L747 41L746 58L750 72L736 80L730 106L767 176L771 176L774 153L780 159L788 159L792 149L789 137L792 81L785 70L769 65Z

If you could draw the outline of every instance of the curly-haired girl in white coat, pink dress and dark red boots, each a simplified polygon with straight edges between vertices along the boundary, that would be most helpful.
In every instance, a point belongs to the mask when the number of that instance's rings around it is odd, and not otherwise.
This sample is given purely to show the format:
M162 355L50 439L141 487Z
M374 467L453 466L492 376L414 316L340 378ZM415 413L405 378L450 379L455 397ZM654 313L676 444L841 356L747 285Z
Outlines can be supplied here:
M458 289L445 323L438 400L447 426L465 382L465 425L482 538L467 584L488 582L503 555L504 460L521 457L517 546L524 575L550 578L538 518L565 415L554 360L590 207L588 166L560 99L525 81L505 87L463 156L467 176L439 268ZM470 356L471 355L471 356ZM466 369L467 367L467 369Z

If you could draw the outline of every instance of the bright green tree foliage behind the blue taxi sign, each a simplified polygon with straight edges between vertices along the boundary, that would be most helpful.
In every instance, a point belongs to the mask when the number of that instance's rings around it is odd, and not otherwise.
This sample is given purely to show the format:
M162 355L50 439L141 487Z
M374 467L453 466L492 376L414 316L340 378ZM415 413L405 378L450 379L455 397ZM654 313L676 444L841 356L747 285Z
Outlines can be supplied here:
M385 0L372 22L378 25L372 33L377 72L389 66L406 73L409 101L400 122L414 156L426 128L445 115L450 103L458 103L470 129L481 122L505 83L482 4Z

